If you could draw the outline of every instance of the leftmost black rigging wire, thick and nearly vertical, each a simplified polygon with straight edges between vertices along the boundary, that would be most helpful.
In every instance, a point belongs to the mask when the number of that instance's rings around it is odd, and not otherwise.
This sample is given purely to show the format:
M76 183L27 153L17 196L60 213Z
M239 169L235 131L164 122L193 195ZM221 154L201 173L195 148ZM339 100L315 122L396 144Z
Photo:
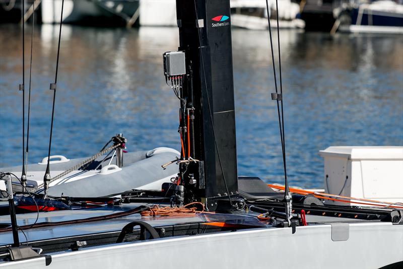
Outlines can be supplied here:
M22 85L20 85L20 90L22 90L22 173L21 182L26 182L26 172L25 172L25 0L21 0L21 18L22 18Z

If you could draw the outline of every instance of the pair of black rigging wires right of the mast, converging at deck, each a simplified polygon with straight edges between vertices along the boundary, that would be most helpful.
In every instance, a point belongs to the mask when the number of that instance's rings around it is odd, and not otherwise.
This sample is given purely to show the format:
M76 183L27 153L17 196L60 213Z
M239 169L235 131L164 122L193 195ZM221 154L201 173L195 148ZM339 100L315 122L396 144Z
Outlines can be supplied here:
M268 22L268 33L270 35L270 46L272 51L272 61L273 61L273 73L274 73L274 82L276 93L278 93L277 87L277 75L276 75L276 64L274 58L274 49L273 49L273 37L272 37L272 26L270 23L270 13L268 10L268 1L266 0L266 10L267 10L267 22ZM277 39L278 39L278 47L279 47L279 73L280 73L280 94L283 97L283 83L282 83L282 75L281 75L281 55L280 55L280 28L279 28L279 7L278 7L278 0L276 0L276 17L277 17ZM284 136L284 110L283 110L283 98L277 101L277 113L279 116L279 127L280 127L280 139L281 139L281 149L283 153L283 166L284 166L284 178L285 178L285 192L284 195L288 195L290 192L287 180L287 164L286 164L286 146L285 146L285 136ZM281 109L280 109L281 105ZM280 112L281 110L281 112Z

